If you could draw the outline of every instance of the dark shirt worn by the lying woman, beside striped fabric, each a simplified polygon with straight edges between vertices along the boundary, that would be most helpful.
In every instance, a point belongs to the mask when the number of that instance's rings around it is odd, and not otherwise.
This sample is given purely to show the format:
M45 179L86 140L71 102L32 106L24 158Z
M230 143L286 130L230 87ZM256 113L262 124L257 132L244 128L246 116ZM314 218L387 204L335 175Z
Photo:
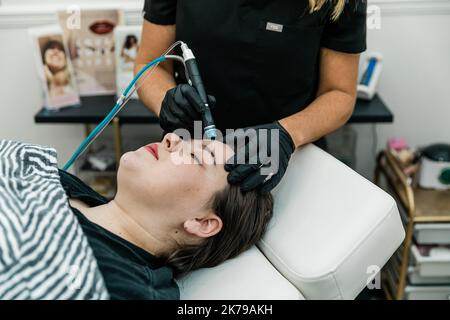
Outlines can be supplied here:
M69 198L89 206L108 200L77 177L60 170L61 184ZM71 207L94 252L111 299L178 300L180 293L172 270L157 257L89 221Z

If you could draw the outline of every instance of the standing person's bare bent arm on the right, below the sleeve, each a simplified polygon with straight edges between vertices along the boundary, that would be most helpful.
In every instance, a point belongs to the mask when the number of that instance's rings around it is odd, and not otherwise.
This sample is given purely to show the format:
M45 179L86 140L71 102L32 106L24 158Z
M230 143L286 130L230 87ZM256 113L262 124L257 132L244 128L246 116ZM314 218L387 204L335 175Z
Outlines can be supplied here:
M356 102L359 54L322 48L317 98L304 110L281 119L296 147L343 126Z

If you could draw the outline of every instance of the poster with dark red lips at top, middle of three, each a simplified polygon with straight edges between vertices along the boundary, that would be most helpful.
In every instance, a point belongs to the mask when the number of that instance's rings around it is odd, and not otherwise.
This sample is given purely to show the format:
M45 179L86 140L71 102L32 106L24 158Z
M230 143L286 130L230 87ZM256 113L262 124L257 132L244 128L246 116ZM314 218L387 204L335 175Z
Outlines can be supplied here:
M79 15L74 17L74 15ZM58 12L81 96L116 92L114 29L123 24L116 9Z

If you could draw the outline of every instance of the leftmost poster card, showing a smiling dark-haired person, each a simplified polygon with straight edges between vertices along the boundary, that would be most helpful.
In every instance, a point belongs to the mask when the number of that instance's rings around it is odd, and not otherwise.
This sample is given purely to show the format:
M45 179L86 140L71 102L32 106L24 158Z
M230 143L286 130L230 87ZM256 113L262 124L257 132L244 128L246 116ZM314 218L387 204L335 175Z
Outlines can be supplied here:
M30 28L33 53L37 72L44 93L47 109L79 105L80 97L76 86L69 51L58 25Z

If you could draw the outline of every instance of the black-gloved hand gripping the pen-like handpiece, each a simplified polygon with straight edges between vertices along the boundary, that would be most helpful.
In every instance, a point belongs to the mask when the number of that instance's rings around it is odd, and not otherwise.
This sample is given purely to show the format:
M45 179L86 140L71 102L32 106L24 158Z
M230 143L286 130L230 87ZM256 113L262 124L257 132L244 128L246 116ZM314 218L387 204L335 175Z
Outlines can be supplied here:
M213 109L216 99L208 96L210 109ZM159 124L166 132L184 128L192 132L194 121L202 120L203 103L194 87L180 84L166 92L161 103Z

